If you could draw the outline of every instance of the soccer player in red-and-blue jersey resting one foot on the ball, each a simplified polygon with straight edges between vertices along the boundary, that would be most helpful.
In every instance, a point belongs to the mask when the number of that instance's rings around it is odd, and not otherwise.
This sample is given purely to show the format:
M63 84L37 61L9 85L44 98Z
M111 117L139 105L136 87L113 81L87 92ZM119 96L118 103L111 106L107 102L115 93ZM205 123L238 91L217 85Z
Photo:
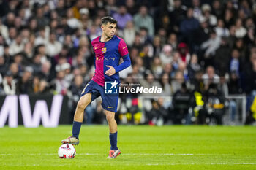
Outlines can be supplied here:
M72 136L62 140L63 144L79 144L80 127L83 123L83 114L86 107L99 96L102 97L102 107L105 109L109 126L110 152L108 158L116 158L120 155L117 147L117 124L115 112L118 105L119 74L123 69L130 66L129 52L124 40L115 35L117 21L111 17L102 18L102 35L91 41L94 50L95 72L91 81L85 86L80 95L80 100L75 110ZM119 65L120 58L123 59ZM108 90L116 88L115 94L106 93ZM108 91L107 91L108 92Z

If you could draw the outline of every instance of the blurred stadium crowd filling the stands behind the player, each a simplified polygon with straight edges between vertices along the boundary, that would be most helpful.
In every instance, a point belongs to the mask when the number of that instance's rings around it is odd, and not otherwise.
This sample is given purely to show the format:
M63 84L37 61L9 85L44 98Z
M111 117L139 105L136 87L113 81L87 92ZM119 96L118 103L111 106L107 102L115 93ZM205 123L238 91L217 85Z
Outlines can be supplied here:
M222 123L246 94L248 115L256 90L256 1L253 0L2 0L0 93L63 94L70 114L94 74L90 41L105 15L118 20L132 66L123 82L157 85L163 96L121 96L118 118L143 123ZM128 79L129 78L129 79ZM188 95L189 94L189 95ZM143 103L143 104L140 104ZM104 122L100 101L87 123ZM141 105L143 105L141 107ZM228 109L227 109L228 108ZM227 111L228 110L228 111ZM136 115L137 114L137 115ZM136 122L137 121L137 122Z

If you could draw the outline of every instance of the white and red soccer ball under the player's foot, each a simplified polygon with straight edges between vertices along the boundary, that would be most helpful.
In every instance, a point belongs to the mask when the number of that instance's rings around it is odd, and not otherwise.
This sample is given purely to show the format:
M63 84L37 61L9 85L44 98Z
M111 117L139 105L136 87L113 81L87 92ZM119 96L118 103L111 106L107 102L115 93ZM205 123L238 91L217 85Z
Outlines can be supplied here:
M72 144L62 144L58 151L59 158L70 159L75 157L75 147Z

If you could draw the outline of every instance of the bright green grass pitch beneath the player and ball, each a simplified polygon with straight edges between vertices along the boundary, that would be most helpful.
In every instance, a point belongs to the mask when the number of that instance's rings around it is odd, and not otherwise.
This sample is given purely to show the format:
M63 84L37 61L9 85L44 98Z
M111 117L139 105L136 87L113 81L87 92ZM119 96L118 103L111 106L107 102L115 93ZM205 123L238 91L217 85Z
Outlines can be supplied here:
M253 126L118 126L121 155L106 159L108 126L83 125L74 159L60 159L58 128L0 128L0 169L256 169Z

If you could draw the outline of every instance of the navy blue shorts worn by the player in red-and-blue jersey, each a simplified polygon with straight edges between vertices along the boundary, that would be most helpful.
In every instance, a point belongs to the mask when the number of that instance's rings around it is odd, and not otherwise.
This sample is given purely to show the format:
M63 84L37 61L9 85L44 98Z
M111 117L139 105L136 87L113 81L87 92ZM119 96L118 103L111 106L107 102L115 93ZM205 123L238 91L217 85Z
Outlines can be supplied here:
M93 80L87 83L80 96L82 97L86 93L91 93L91 101L102 96L103 109L116 112L118 106L118 95L105 94L105 88L98 85L97 82L94 82Z

